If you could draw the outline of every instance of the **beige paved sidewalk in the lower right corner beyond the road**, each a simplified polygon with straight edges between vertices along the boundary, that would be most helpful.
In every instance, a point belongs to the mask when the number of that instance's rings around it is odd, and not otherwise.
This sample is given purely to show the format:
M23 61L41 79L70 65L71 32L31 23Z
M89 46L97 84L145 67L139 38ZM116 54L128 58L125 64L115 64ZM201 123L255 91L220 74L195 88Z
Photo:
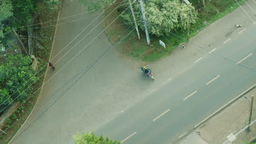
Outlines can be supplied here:
M235 135L232 144L251 142L256 139L256 103L253 103L252 122L248 133L243 130L248 124L249 101L251 95L256 97L256 88L247 93L235 103L213 117L210 121L197 128L193 133L185 137L180 144L225 144L231 143L230 135ZM246 99L246 98L248 99ZM255 99L255 98L254 98Z

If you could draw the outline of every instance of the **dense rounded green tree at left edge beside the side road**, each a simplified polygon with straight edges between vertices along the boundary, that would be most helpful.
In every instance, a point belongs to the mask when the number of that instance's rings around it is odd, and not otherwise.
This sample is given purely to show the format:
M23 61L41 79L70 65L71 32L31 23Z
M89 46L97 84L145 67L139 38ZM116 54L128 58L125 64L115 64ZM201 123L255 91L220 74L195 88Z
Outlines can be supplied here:
M33 76L31 62L32 60L28 56L10 55L0 65L1 104L6 100L4 105L8 105L17 97L20 101L25 100L32 93L33 88L30 85L37 77Z

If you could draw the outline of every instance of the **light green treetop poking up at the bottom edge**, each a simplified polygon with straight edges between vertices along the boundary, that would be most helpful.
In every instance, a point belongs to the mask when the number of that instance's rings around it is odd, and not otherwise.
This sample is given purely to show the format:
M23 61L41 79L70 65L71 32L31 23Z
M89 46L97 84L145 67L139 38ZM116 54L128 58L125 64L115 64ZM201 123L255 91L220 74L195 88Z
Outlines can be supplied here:
M121 144L120 141L112 141L108 137L104 139L103 135L97 137L93 131L90 134L88 132L82 132L82 134L77 132L77 135L73 135L73 139L74 144Z

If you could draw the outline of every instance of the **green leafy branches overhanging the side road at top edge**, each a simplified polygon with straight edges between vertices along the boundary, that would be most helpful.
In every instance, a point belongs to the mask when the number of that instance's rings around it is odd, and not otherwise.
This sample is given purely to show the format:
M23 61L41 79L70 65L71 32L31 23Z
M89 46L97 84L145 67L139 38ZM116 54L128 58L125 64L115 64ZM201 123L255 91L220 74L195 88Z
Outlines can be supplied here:
M109 4L114 3L116 0L79 0L79 3L87 5L88 11L100 9L106 7Z

